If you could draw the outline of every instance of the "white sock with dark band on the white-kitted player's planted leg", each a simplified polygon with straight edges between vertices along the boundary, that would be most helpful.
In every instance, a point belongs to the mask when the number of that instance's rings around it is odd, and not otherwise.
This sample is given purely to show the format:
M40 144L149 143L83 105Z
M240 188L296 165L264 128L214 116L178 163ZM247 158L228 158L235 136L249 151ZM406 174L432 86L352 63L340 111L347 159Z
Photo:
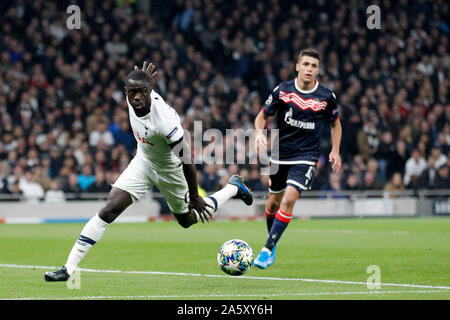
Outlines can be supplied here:
M75 242L72 251L70 251L65 264L69 275L72 275L73 271L77 268L80 261L86 256L92 246L102 238L108 225L109 223L100 219L98 214L93 216L91 220L86 223L80 236Z

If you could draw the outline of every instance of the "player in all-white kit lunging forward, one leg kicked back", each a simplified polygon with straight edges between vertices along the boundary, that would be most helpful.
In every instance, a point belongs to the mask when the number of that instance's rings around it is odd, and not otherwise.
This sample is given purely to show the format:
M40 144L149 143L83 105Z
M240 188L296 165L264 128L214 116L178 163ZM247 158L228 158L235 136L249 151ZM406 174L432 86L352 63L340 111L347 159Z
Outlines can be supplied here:
M84 226L65 265L45 272L46 281L66 281L106 227L153 186L164 195L178 223L188 228L209 218L230 198L253 203L253 194L242 178L233 175L228 184L209 197L198 194L196 169L184 139L180 117L151 88L154 65L144 62L127 76L125 93L137 152L112 185L106 205Z

